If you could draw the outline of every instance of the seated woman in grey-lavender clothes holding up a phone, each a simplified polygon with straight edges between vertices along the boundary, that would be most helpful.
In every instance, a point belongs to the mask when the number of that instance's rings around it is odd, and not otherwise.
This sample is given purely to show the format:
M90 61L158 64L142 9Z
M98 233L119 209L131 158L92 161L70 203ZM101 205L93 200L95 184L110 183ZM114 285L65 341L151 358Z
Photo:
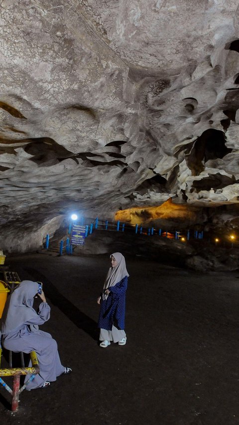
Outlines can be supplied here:
M56 381L57 376L71 372L70 368L61 364L56 341L50 334L38 329L38 325L50 318L50 306L43 291L38 293L38 288L37 282L23 280L9 296L0 320L2 346L5 349L23 353L35 351L37 354L40 373L27 384L28 391L47 387L50 381ZM37 313L32 307L36 294L42 300ZM25 382L28 379L29 375L26 375Z

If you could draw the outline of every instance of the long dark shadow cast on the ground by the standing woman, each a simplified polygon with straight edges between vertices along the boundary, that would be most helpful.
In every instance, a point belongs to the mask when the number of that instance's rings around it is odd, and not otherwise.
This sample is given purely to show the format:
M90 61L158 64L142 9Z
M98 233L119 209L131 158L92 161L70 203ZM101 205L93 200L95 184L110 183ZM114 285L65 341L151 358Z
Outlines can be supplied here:
M24 270L26 270L35 281L42 281L45 283L44 293L51 300L53 305L56 305L78 328L90 335L95 341L99 339L97 323L93 319L88 317L85 313L82 313L72 302L64 297L44 274L30 267L24 268Z

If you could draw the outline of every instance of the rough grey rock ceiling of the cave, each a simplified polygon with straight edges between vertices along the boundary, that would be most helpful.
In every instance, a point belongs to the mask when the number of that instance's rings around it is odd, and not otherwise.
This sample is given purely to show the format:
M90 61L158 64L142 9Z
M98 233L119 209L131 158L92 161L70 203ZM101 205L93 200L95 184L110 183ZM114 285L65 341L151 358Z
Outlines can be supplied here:
M1 0L0 223L239 202L235 0Z

